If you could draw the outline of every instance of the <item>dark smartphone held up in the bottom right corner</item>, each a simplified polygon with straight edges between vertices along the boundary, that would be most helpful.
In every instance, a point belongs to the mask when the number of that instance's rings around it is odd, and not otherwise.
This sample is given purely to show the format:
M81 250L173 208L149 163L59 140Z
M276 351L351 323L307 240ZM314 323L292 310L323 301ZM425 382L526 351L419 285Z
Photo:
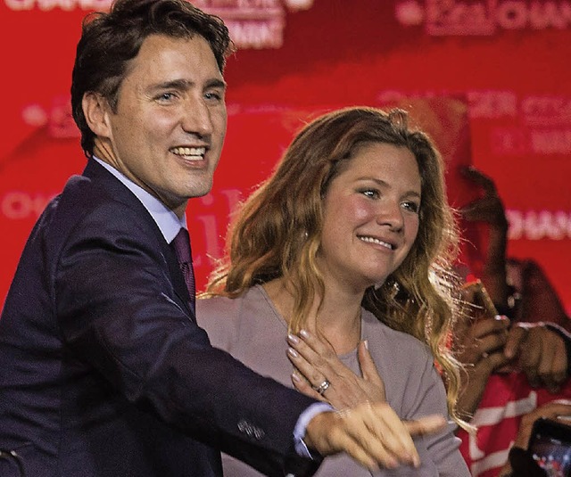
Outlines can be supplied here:
M571 426L537 419L527 449L547 477L571 477Z

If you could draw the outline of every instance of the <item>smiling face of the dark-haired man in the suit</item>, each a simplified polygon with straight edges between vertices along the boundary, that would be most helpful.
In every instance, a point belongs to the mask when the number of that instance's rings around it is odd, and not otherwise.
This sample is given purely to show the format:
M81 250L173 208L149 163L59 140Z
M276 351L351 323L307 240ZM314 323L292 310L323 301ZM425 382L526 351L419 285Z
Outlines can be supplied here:
M211 190L226 134L225 90L203 37L147 37L121 83L117 111L107 111L111 151L101 159L180 217L190 197Z

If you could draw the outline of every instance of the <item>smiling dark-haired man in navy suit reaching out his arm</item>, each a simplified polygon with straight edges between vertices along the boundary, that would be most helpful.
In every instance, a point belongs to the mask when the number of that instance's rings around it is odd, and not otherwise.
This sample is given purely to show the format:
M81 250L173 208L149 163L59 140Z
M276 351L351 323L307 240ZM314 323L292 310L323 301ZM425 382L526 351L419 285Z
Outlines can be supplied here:
M377 445L386 405L331 412L196 325L170 243L211 189L230 45L184 0L119 0L84 25L71 103L87 168L39 218L0 320L3 477L220 475L220 449L269 475L342 450L411 462L405 426Z

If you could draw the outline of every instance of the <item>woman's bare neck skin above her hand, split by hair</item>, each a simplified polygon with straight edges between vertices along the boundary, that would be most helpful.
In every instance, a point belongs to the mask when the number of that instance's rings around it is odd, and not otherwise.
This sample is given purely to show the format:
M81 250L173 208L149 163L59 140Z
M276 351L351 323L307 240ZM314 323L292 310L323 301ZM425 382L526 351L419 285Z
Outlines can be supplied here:
M263 285L277 311L289 324L294 312L294 296L282 279L278 278ZM360 341L360 303L362 295L325 293L319 309L319 297L314 297L303 328L317 333L331 343L338 355L354 350Z

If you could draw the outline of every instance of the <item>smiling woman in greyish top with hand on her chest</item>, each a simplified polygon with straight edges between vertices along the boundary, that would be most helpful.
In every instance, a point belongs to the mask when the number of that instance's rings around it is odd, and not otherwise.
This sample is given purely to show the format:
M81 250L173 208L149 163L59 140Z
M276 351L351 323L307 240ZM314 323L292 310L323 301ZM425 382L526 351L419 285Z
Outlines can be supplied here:
M332 111L302 128L237 212L199 324L214 346L336 408L386 400L402 421L456 421L415 438L417 469L395 462L376 475L468 476L447 346L457 244L426 134L401 110ZM225 475L257 475L230 457L224 465ZM370 473L334 456L318 475Z

